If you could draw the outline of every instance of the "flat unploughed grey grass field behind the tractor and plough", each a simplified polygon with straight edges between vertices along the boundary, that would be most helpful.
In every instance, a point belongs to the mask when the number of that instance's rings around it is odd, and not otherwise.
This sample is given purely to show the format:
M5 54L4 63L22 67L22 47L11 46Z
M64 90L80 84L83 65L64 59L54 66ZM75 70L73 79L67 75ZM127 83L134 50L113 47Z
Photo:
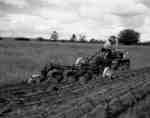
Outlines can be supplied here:
M79 56L92 55L100 44L0 41L0 83L12 83L27 79L50 60L61 64L73 64ZM131 57L131 67L150 66L150 47L120 46Z

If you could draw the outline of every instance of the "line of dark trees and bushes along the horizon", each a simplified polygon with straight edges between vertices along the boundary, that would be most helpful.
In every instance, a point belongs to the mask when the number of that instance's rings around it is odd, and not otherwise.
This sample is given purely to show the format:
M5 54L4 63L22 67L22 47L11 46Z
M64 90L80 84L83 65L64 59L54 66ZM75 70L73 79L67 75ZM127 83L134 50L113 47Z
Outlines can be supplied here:
M137 45L137 44L142 44L144 43L139 43L140 41L140 33L135 31L134 29L124 29L120 31L117 35L118 41L121 44L124 45ZM14 38L15 40L19 41L30 41L32 39L30 38L25 38L25 37L16 37ZM0 40L3 40L3 37L0 37ZM87 41L86 35L80 34L78 37L76 34L72 34L70 39L60 39L59 38L59 33L57 31L53 31L50 35L49 39L44 39L43 37L38 37L36 38L37 41L53 41L53 42L81 42L81 43L104 43L102 40L97 40L95 38L91 38L89 41ZM150 44L150 42L147 42L146 44Z

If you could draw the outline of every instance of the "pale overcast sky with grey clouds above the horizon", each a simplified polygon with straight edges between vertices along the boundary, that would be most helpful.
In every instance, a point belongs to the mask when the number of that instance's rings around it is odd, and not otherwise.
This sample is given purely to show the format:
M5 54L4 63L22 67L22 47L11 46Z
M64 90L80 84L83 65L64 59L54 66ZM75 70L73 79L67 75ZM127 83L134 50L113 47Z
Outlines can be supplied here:
M0 0L0 35L106 39L125 28L150 40L150 0Z

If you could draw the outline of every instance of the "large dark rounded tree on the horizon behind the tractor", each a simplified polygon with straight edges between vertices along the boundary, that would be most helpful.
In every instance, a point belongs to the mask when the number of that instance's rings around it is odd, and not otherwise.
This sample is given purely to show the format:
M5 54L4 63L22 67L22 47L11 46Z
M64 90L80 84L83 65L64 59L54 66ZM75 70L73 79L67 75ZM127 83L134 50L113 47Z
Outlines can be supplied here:
M118 34L119 43L125 45L137 44L140 38L140 33L133 29L125 29Z

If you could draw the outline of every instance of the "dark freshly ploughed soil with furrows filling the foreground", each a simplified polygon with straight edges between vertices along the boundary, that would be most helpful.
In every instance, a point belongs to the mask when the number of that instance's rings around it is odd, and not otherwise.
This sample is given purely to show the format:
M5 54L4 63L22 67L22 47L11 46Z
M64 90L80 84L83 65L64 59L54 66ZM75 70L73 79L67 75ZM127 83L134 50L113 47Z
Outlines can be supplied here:
M81 85L18 83L0 89L4 118L137 118L149 116L150 68L96 77ZM58 90L54 88L58 87ZM138 116L137 116L138 115Z

